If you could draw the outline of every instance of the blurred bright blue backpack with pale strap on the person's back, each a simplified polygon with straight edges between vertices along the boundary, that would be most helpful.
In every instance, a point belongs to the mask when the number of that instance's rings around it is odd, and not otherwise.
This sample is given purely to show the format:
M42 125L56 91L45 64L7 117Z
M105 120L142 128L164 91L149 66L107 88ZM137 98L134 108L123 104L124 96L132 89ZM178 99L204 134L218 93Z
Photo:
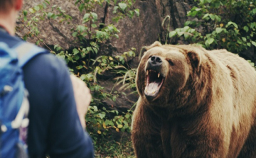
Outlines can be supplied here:
M46 52L31 43L10 48L0 43L0 158L28 157L28 92L22 67L39 53Z

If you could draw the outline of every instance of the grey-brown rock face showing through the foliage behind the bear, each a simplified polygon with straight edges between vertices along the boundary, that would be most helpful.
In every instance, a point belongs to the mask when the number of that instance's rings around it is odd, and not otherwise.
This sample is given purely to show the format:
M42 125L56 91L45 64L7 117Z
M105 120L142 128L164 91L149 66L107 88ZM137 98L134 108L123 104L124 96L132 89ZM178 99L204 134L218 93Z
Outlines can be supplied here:
M78 6L75 6L75 0L60 1L60 0L48 0L50 1L50 7L47 11L52 11L51 6L60 6L65 13L68 13L73 19L72 24L82 25L82 18L85 13L80 13ZM26 0L24 1L23 9L27 11L43 0ZM139 51L144 45L150 45L156 40L165 39L167 30L174 30L175 28L182 27L186 21L186 12L189 10L189 1L180 0L137 0L134 4L134 9L139 9L139 17L124 18L119 20L117 24L114 24L119 30L119 39L112 38L106 43L106 47L111 47L113 55L121 55L123 52L129 50L131 47L136 48L137 56L130 61L131 67L137 67L139 64ZM98 15L99 23L111 24L113 15L114 4L104 4L103 6L95 7L95 13ZM166 16L170 16L170 21L164 23L164 27L161 26L162 21ZM24 22L23 22L24 23ZM16 34L20 37L28 32L28 28L23 27L21 21L17 21L18 30ZM170 25L168 25L170 23ZM169 28L168 28L169 26ZM78 43L72 36L70 29L72 25L60 25L58 21L49 20L48 18L43 21L39 21L38 29L40 34L38 38L43 39L43 42L48 47L53 45L60 45L65 50L70 50ZM28 41L36 43L38 40L36 37L28 38ZM41 46L45 47L43 43ZM104 53L105 49L102 49ZM105 86L107 91L112 91L114 82L111 77L103 77L104 79L98 79L98 83ZM114 90L118 91L118 88ZM127 90L127 94L131 90ZM123 110L124 108L130 108L137 101L137 95L120 96L116 102L106 101L107 105L113 105Z

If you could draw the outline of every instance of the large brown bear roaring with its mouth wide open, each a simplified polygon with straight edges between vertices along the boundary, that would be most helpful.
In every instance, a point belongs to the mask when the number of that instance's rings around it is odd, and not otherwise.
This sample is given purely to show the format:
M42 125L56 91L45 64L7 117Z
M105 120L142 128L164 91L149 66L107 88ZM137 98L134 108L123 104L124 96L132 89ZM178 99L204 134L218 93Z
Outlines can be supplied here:
M155 42L136 82L138 158L256 157L256 72L238 55Z

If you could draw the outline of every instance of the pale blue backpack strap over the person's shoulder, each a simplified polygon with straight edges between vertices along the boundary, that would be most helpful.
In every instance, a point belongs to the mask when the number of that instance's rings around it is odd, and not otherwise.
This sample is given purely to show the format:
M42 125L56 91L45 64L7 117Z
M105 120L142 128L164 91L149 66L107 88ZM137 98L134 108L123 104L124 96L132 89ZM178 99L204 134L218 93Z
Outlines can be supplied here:
M15 48L18 52L18 65L23 67L29 60L35 57L38 54L46 53L47 50L32 43L21 43L18 47Z

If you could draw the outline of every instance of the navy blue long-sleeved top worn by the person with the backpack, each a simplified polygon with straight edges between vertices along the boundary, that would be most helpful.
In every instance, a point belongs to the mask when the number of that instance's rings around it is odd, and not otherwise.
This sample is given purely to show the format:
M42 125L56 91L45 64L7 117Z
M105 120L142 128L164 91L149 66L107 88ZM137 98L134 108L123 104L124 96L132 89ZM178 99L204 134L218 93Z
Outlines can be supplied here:
M0 30L0 42L9 47L22 41ZM37 55L23 73L30 103L29 156L93 157L92 140L80 124L65 62L50 53Z

